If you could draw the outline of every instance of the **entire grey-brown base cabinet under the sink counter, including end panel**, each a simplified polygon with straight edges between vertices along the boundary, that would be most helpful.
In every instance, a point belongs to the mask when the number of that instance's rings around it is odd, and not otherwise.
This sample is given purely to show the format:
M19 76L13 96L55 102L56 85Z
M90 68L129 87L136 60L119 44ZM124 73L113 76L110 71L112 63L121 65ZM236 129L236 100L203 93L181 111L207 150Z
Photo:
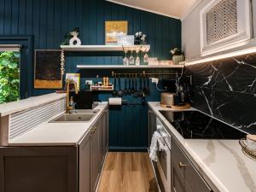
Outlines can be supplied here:
M0 147L0 192L96 191L107 133L108 110L78 146Z

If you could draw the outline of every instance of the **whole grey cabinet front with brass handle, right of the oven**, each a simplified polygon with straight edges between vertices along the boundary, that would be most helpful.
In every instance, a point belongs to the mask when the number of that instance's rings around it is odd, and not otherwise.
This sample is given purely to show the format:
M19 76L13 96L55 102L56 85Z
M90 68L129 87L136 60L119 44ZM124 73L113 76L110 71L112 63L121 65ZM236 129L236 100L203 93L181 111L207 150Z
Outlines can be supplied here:
M172 192L211 192L212 189L197 172L195 166L183 154L172 139Z

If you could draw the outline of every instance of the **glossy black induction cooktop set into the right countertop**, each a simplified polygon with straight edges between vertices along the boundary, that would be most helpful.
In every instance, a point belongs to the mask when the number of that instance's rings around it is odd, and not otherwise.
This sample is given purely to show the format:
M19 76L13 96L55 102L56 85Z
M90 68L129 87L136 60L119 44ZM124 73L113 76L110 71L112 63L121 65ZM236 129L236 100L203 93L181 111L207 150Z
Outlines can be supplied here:
M171 125L187 139L241 139L246 133L199 111L160 111Z

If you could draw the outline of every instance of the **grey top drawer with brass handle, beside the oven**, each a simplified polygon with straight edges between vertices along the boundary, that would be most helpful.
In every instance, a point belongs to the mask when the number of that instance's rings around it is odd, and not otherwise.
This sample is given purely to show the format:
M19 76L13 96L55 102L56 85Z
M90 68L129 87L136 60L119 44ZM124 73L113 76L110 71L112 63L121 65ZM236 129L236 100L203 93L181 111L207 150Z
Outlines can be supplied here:
M189 159L183 154L181 148L177 143L172 140L172 158L177 164L181 174L185 179L185 183L189 185L190 189L195 192L211 192L212 189L208 186L205 180L197 172L195 166L189 161Z

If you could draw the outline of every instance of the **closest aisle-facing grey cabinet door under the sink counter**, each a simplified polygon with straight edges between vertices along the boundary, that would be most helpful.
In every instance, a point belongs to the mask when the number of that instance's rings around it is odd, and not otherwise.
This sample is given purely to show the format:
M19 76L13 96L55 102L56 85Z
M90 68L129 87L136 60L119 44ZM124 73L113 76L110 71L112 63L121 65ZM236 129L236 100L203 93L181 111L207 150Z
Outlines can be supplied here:
M90 192L90 134L79 144L79 192Z

